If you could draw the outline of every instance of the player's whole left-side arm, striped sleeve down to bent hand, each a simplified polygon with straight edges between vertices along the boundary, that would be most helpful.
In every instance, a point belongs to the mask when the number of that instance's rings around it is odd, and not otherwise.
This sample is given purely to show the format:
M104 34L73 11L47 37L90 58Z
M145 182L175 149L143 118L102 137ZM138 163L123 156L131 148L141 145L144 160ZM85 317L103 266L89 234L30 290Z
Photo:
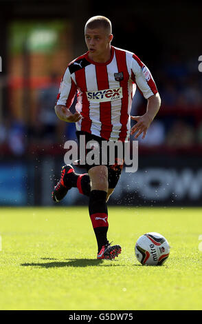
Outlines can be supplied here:
M76 84L71 79L69 68L67 68L63 76L63 80L60 83L60 90L55 105L56 115L61 121L66 121L67 123L76 123L76 121L79 121L82 118L77 111L72 114L69 110L74 101L76 89Z

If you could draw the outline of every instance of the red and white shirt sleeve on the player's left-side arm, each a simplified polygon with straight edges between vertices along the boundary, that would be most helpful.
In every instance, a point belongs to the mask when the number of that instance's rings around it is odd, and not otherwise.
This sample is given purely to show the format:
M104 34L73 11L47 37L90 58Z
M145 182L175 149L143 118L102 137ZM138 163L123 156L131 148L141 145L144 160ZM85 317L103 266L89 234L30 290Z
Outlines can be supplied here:
M71 78L68 67L60 83L56 105L65 105L67 108L70 108L76 95L76 89L76 84Z

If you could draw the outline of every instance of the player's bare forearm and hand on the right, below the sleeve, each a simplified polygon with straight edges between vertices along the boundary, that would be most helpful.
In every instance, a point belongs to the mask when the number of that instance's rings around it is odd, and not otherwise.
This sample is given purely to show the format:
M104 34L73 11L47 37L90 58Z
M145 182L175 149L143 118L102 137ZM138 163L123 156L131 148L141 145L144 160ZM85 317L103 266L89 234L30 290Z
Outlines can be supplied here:
M137 139L137 137L142 133L143 133L142 139L144 139L144 137L146 136L146 132L150 126L150 123L155 118L161 105L161 98L158 92L157 94L153 94L153 96L149 97L147 101L148 103L147 103L146 113L143 116L136 116L136 117L131 116L131 119L137 121L137 123L133 126L133 128L131 128L131 134L137 132L137 134L135 135L135 139Z

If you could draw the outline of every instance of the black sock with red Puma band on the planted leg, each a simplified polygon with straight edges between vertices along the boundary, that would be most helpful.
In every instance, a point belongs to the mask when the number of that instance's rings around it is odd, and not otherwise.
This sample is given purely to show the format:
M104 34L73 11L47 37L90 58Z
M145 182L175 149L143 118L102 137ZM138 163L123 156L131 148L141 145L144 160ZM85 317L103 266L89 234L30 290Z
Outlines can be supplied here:
M98 252L103 245L109 243L106 238L108 231L108 210L106 206L106 192L103 190L92 190L89 199L89 214L96 234Z

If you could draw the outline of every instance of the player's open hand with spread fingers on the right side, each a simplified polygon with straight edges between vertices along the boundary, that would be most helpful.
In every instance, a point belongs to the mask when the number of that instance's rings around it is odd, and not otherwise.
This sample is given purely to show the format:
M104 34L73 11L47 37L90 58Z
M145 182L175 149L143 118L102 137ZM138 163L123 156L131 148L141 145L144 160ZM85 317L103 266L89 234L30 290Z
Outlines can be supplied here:
M144 139L150 123L153 120L150 119L147 114L144 114L143 116L131 116L131 119L133 119L133 121L137 121L137 123L131 128L131 135L137 132L135 135L135 139L137 139L137 137L143 133L142 139Z

